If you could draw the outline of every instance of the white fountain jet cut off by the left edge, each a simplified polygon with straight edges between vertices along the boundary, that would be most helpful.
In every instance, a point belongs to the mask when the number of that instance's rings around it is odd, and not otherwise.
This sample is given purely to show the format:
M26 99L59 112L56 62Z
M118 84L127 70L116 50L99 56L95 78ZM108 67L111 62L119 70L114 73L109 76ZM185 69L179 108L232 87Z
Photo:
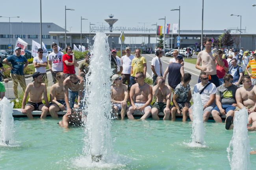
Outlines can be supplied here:
M0 145L13 142L13 105L6 97L0 101Z

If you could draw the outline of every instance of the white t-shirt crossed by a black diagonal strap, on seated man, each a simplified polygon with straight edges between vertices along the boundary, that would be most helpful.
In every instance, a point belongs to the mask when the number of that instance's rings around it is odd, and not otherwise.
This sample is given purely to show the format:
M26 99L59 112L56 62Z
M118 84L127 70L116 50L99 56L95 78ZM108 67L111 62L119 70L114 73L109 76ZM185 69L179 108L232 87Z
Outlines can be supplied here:
M193 93L199 93L199 91L201 91L204 87L202 86L201 82L197 83L194 86L194 90ZM215 94L216 93L216 86L211 83L209 84L205 89L204 92L202 92L202 94L200 94L201 96L201 100L202 100L202 104L206 104L209 100L210 100L210 95L211 94Z

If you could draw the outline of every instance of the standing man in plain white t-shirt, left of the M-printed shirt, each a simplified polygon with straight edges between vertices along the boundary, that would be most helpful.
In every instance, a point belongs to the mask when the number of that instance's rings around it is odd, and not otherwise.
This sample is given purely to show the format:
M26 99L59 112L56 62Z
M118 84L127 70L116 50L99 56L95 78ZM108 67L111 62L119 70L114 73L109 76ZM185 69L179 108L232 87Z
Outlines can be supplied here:
M39 72L42 75L43 83L48 85L48 79L46 75L46 66L47 66L47 58L43 56L43 49L39 48L37 50L38 56L33 58L33 64L35 67L35 72Z

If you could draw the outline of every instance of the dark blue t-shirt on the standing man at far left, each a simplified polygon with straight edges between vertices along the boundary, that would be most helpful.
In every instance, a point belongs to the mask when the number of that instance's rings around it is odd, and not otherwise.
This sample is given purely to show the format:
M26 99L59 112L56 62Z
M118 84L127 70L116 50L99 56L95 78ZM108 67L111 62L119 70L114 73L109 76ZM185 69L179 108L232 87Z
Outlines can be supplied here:
M11 62L11 65L13 66L13 69L11 69L12 74L24 75L24 62L28 61L26 57L23 55L20 55L19 57L16 55L11 55L7 57L6 60Z

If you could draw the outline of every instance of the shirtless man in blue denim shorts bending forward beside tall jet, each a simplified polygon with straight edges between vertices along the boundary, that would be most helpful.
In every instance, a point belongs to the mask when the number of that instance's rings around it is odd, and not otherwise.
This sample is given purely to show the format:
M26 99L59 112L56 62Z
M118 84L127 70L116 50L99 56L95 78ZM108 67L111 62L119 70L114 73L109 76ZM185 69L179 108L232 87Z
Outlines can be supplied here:
M78 106L80 105L83 92L83 78L79 75L71 74L64 80L63 85L67 114L69 114L71 109L74 108L76 97Z

